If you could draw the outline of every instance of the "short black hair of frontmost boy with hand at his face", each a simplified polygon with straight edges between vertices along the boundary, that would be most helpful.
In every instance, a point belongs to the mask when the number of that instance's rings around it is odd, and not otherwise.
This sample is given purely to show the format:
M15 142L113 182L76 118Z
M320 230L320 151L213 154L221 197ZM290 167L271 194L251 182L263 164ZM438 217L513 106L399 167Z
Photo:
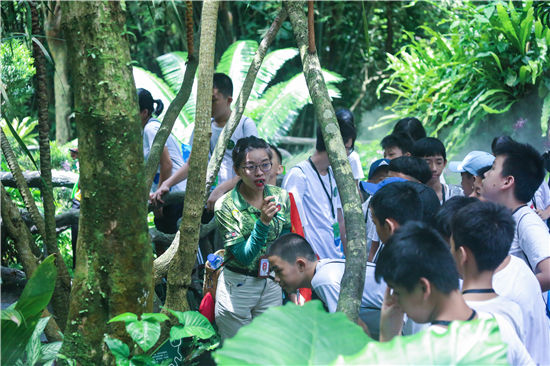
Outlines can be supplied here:
M458 270L443 238L422 222L411 221L395 231L386 243L374 272L392 286L412 291L426 278L444 294L458 289Z

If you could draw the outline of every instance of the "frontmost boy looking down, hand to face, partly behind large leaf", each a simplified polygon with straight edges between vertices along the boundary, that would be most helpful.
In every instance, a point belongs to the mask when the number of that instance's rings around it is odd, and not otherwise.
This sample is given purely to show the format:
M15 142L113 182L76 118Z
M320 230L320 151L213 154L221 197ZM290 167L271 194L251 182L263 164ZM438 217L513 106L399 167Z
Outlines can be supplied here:
M383 278L388 286L380 319L380 340L384 342L401 333L405 313L417 323L431 323L429 329L435 332L445 331L452 321L493 317L478 314L466 304L458 289L458 271L447 244L420 222L403 225L389 239L378 259L375 278ZM499 315L494 318L508 345L508 362L534 365L510 324Z

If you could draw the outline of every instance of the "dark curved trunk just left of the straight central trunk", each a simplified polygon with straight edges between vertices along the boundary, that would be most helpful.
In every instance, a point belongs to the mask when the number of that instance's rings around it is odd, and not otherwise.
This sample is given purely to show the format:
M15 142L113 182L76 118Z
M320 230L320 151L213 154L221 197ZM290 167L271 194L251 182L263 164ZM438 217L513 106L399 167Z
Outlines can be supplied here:
M185 69L185 74L183 75L183 82L181 83L180 90L174 100L170 103L162 124L160 125L153 144L151 146L151 151L149 152L149 158L145 164L145 176L147 177L147 187L151 189L153 184L153 179L155 177L155 172L158 169L160 162L160 155L166 144L166 140L172 132L172 127L174 127L174 122L178 118L181 109L187 103L189 95L191 94L191 89L193 88L193 81L195 80L195 72L197 71L197 60L191 55L187 62L187 67Z

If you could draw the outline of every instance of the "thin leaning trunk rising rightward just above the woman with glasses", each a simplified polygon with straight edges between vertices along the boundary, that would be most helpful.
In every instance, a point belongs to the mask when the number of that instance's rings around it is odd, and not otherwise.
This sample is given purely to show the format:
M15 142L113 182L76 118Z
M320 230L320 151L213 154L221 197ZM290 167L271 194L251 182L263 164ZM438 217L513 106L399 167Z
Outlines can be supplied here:
M212 157L208 162L208 171L206 173L206 192L210 192L210 187L218 175L218 171L220 170L220 165L223 160L223 155L225 153L225 149L227 148L227 143L241 121L241 117L246 107L246 102L248 101L248 97L250 97L250 92L252 91L252 87L256 81L256 75L258 75L260 66L262 66L267 49L271 45L271 42L273 42L273 39L275 39L275 36L277 35L277 32L281 28L281 25L285 21L286 17L286 10L282 9L273 21L273 24L271 24L271 27L267 31L264 39L262 39L260 45L258 46L258 50L254 55L254 60L252 60L252 63L250 64L248 73L246 74L246 78L243 82L243 86L239 96L237 97L235 108L231 111L229 121L227 121L224 129L222 130L222 133L218 138L218 142L216 143L216 147L214 148L214 152L212 153ZM208 197L205 197L204 200L206 201L207 198Z

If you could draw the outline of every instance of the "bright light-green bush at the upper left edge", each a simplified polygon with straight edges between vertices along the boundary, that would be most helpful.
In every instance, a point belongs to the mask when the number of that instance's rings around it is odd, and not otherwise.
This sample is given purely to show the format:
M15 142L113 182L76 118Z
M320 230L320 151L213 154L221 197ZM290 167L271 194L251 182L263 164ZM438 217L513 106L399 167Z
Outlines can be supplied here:
M10 38L2 41L0 45L2 99L4 100L4 96L7 97L12 106L10 111L19 118L30 112L28 102L34 93L31 78L36 73L33 63L31 51L22 40ZM2 109L7 109L5 101L2 102Z

